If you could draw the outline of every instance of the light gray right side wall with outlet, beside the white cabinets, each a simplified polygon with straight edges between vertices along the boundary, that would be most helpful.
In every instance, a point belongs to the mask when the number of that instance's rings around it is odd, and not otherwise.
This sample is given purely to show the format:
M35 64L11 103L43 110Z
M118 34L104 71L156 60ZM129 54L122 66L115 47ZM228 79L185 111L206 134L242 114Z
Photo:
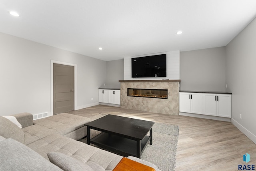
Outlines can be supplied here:
M256 19L226 46L226 82L232 123L256 143ZM242 119L239 118L242 114Z

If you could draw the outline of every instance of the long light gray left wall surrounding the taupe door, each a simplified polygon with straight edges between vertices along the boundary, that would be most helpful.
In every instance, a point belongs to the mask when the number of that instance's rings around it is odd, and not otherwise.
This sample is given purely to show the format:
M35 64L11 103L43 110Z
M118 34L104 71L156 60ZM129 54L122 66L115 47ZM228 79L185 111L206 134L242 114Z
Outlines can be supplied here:
M98 103L105 61L3 33L0 47L0 115L50 112L51 60L77 64L78 108Z

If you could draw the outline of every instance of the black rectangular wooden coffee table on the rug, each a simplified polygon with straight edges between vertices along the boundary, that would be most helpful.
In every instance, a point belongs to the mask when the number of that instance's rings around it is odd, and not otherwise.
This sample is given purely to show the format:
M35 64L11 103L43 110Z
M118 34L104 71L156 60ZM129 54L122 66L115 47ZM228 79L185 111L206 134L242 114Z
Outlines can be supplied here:
M152 121L106 115L85 125L87 126L87 144L98 145L125 157L132 155L140 158L148 143L152 145L152 126L154 125ZM102 133L90 139L90 129L102 131ZM149 136L148 132L150 132Z

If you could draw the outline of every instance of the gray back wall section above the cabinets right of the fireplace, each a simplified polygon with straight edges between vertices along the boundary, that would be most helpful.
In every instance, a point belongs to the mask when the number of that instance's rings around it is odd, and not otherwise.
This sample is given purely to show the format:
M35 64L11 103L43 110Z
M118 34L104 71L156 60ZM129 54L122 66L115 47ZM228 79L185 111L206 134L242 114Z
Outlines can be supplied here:
M226 91L225 47L180 52L180 90Z

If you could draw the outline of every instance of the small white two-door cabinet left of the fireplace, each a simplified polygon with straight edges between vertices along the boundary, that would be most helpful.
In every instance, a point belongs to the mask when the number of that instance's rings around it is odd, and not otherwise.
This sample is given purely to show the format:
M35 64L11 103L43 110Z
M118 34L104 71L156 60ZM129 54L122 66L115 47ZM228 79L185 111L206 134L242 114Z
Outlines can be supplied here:
M120 90L99 89L99 102L120 105Z

